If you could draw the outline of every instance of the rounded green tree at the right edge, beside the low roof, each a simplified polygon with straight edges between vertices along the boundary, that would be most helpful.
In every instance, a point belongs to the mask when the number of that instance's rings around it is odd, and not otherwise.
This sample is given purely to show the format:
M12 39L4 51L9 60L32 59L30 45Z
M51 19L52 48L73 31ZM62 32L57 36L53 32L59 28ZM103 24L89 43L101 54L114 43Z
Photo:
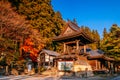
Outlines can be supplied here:
M116 24L112 25L110 32L107 33L101 40L101 49L105 51L106 55L120 60L120 27Z

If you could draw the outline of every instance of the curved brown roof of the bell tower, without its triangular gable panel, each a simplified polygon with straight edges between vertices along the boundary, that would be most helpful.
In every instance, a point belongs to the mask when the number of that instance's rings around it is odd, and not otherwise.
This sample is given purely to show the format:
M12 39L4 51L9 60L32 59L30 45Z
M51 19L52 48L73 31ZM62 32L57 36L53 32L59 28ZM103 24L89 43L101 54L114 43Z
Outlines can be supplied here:
M59 35L53 38L53 41L62 41L70 38L75 38L75 37L83 37L86 39L89 43L95 42L93 39L91 39L80 27L78 27L75 23L68 21L67 22L67 27L70 27L73 32L64 34L65 30Z

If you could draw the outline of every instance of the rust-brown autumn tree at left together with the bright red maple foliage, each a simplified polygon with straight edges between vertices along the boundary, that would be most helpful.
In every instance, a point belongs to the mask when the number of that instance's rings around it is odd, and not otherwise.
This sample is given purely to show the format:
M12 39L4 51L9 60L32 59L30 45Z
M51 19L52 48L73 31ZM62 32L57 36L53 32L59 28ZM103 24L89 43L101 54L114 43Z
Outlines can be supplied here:
M37 53L44 45L40 32L31 28L25 16L19 15L7 0L0 1L0 42L0 53L7 51L5 54L10 62L18 60L19 53L30 53L29 57L36 61ZM20 46L23 53L19 51Z

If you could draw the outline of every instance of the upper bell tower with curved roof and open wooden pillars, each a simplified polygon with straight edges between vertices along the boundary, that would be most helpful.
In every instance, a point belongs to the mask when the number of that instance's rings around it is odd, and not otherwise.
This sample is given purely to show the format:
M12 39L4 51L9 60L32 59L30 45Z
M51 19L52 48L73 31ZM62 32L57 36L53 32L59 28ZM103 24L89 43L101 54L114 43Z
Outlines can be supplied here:
M66 24L65 30L55 37L53 41L63 43L64 54L80 54L80 50L83 48L84 52L86 52L87 44L94 42L81 28L70 21Z

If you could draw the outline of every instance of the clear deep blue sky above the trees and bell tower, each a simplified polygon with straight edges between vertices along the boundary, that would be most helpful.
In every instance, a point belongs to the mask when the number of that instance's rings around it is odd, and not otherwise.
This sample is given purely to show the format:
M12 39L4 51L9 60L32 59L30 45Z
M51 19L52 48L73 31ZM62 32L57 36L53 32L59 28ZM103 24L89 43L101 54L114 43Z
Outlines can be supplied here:
M97 30L102 37L103 29L109 31L112 24L120 26L120 0L51 0L54 11L62 18L76 19L78 26Z

